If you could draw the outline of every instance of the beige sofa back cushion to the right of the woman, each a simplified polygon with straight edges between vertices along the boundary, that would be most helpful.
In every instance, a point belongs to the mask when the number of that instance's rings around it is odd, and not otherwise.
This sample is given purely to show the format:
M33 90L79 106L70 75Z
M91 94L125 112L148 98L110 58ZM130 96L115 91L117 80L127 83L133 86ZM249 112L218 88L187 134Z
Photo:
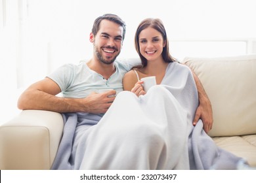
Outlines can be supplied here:
M211 137L256 134L256 55L184 58L213 107Z

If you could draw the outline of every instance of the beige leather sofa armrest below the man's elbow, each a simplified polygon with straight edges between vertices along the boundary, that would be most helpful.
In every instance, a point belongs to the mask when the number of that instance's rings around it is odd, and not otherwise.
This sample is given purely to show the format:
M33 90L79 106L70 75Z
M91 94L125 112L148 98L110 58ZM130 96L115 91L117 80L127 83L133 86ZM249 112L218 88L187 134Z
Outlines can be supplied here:
M0 126L0 169L51 169L63 127L58 112L22 110Z

